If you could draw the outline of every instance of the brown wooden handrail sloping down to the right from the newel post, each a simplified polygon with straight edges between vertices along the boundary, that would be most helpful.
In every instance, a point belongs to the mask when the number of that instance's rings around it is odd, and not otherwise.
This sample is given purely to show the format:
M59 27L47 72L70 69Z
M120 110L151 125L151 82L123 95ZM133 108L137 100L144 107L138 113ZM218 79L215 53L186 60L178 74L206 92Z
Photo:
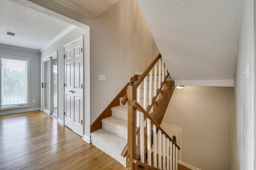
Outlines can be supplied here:
M143 109L143 107L136 100L133 101L132 106L135 107L138 111L142 112L144 114L144 116L147 119L149 119L151 121L151 123L153 123L153 125L156 125L156 127L159 130L161 130L162 134L167 136L167 138L169 138L169 140L172 141L172 143L175 146L177 146L178 150L180 150L180 146L178 146L178 144L176 144L176 142L174 142L174 140L172 140L172 138L164 131L164 129L161 128L160 125L158 125L158 123Z

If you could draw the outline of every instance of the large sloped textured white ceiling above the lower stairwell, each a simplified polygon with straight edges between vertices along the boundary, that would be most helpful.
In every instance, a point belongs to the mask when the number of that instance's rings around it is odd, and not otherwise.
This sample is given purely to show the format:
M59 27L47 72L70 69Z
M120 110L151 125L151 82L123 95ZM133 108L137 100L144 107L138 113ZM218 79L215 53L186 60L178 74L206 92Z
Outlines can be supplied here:
M138 4L173 80L234 79L242 1Z

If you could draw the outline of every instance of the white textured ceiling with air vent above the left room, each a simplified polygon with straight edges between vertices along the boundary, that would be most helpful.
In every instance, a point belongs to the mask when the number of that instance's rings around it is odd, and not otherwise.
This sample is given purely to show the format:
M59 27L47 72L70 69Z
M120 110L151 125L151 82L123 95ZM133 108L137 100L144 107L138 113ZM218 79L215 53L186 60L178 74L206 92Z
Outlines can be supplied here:
M9 0L0 0L0 43L41 49L71 24L21 6ZM6 31L17 33L6 35Z

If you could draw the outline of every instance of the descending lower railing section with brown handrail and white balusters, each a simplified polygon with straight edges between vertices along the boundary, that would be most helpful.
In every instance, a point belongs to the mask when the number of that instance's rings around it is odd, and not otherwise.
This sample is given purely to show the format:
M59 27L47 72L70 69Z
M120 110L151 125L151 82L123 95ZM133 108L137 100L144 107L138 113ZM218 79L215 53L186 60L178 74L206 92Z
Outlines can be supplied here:
M141 159L140 161L136 159L134 159L133 161L142 162L160 170L178 170L178 150L180 150L180 147L164 131L164 129L161 128L154 119L152 119L152 117L143 109L143 107L136 100L133 101L132 106L140 111L140 113L142 113L143 116L146 118L147 129L147 161L143 162L143 160ZM151 143L152 128L153 143ZM140 145L144 146L144 143L140 143ZM153 148L153 150L151 150L151 148ZM153 158L151 158L152 155ZM143 155L140 155L140 158L142 156Z

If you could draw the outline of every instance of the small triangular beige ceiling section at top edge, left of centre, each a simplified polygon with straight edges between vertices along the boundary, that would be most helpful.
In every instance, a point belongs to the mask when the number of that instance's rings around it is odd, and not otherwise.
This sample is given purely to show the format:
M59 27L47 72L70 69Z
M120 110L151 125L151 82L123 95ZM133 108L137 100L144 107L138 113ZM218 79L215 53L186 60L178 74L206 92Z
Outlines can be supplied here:
M119 0L53 0L88 18L94 19Z

